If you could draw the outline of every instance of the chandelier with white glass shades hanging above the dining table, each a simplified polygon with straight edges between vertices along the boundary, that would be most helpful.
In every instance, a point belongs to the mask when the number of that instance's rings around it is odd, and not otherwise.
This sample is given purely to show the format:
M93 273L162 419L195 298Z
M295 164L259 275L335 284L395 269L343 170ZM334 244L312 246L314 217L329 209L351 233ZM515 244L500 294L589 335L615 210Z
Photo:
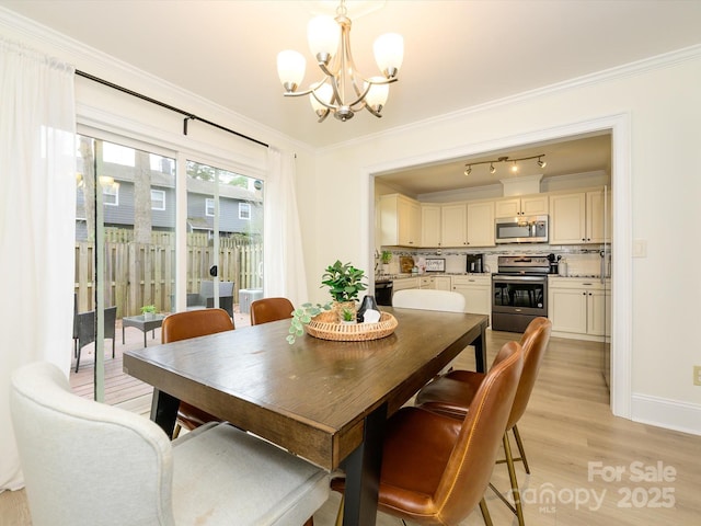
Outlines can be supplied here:
M333 113L341 122L353 118L366 108L381 117L389 95L389 84L395 82L404 58L404 39L397 33L387 33L375 41L375 60L382 76L364 78L356 69L350 54L350 19L345 0L341 0L335 19L315 16L307 26L309 48L324 77L308 90L297 91L304 78L304 57L294 50L277 56L277 75L285 88L285 96L309 95L312 108L321 123Z

